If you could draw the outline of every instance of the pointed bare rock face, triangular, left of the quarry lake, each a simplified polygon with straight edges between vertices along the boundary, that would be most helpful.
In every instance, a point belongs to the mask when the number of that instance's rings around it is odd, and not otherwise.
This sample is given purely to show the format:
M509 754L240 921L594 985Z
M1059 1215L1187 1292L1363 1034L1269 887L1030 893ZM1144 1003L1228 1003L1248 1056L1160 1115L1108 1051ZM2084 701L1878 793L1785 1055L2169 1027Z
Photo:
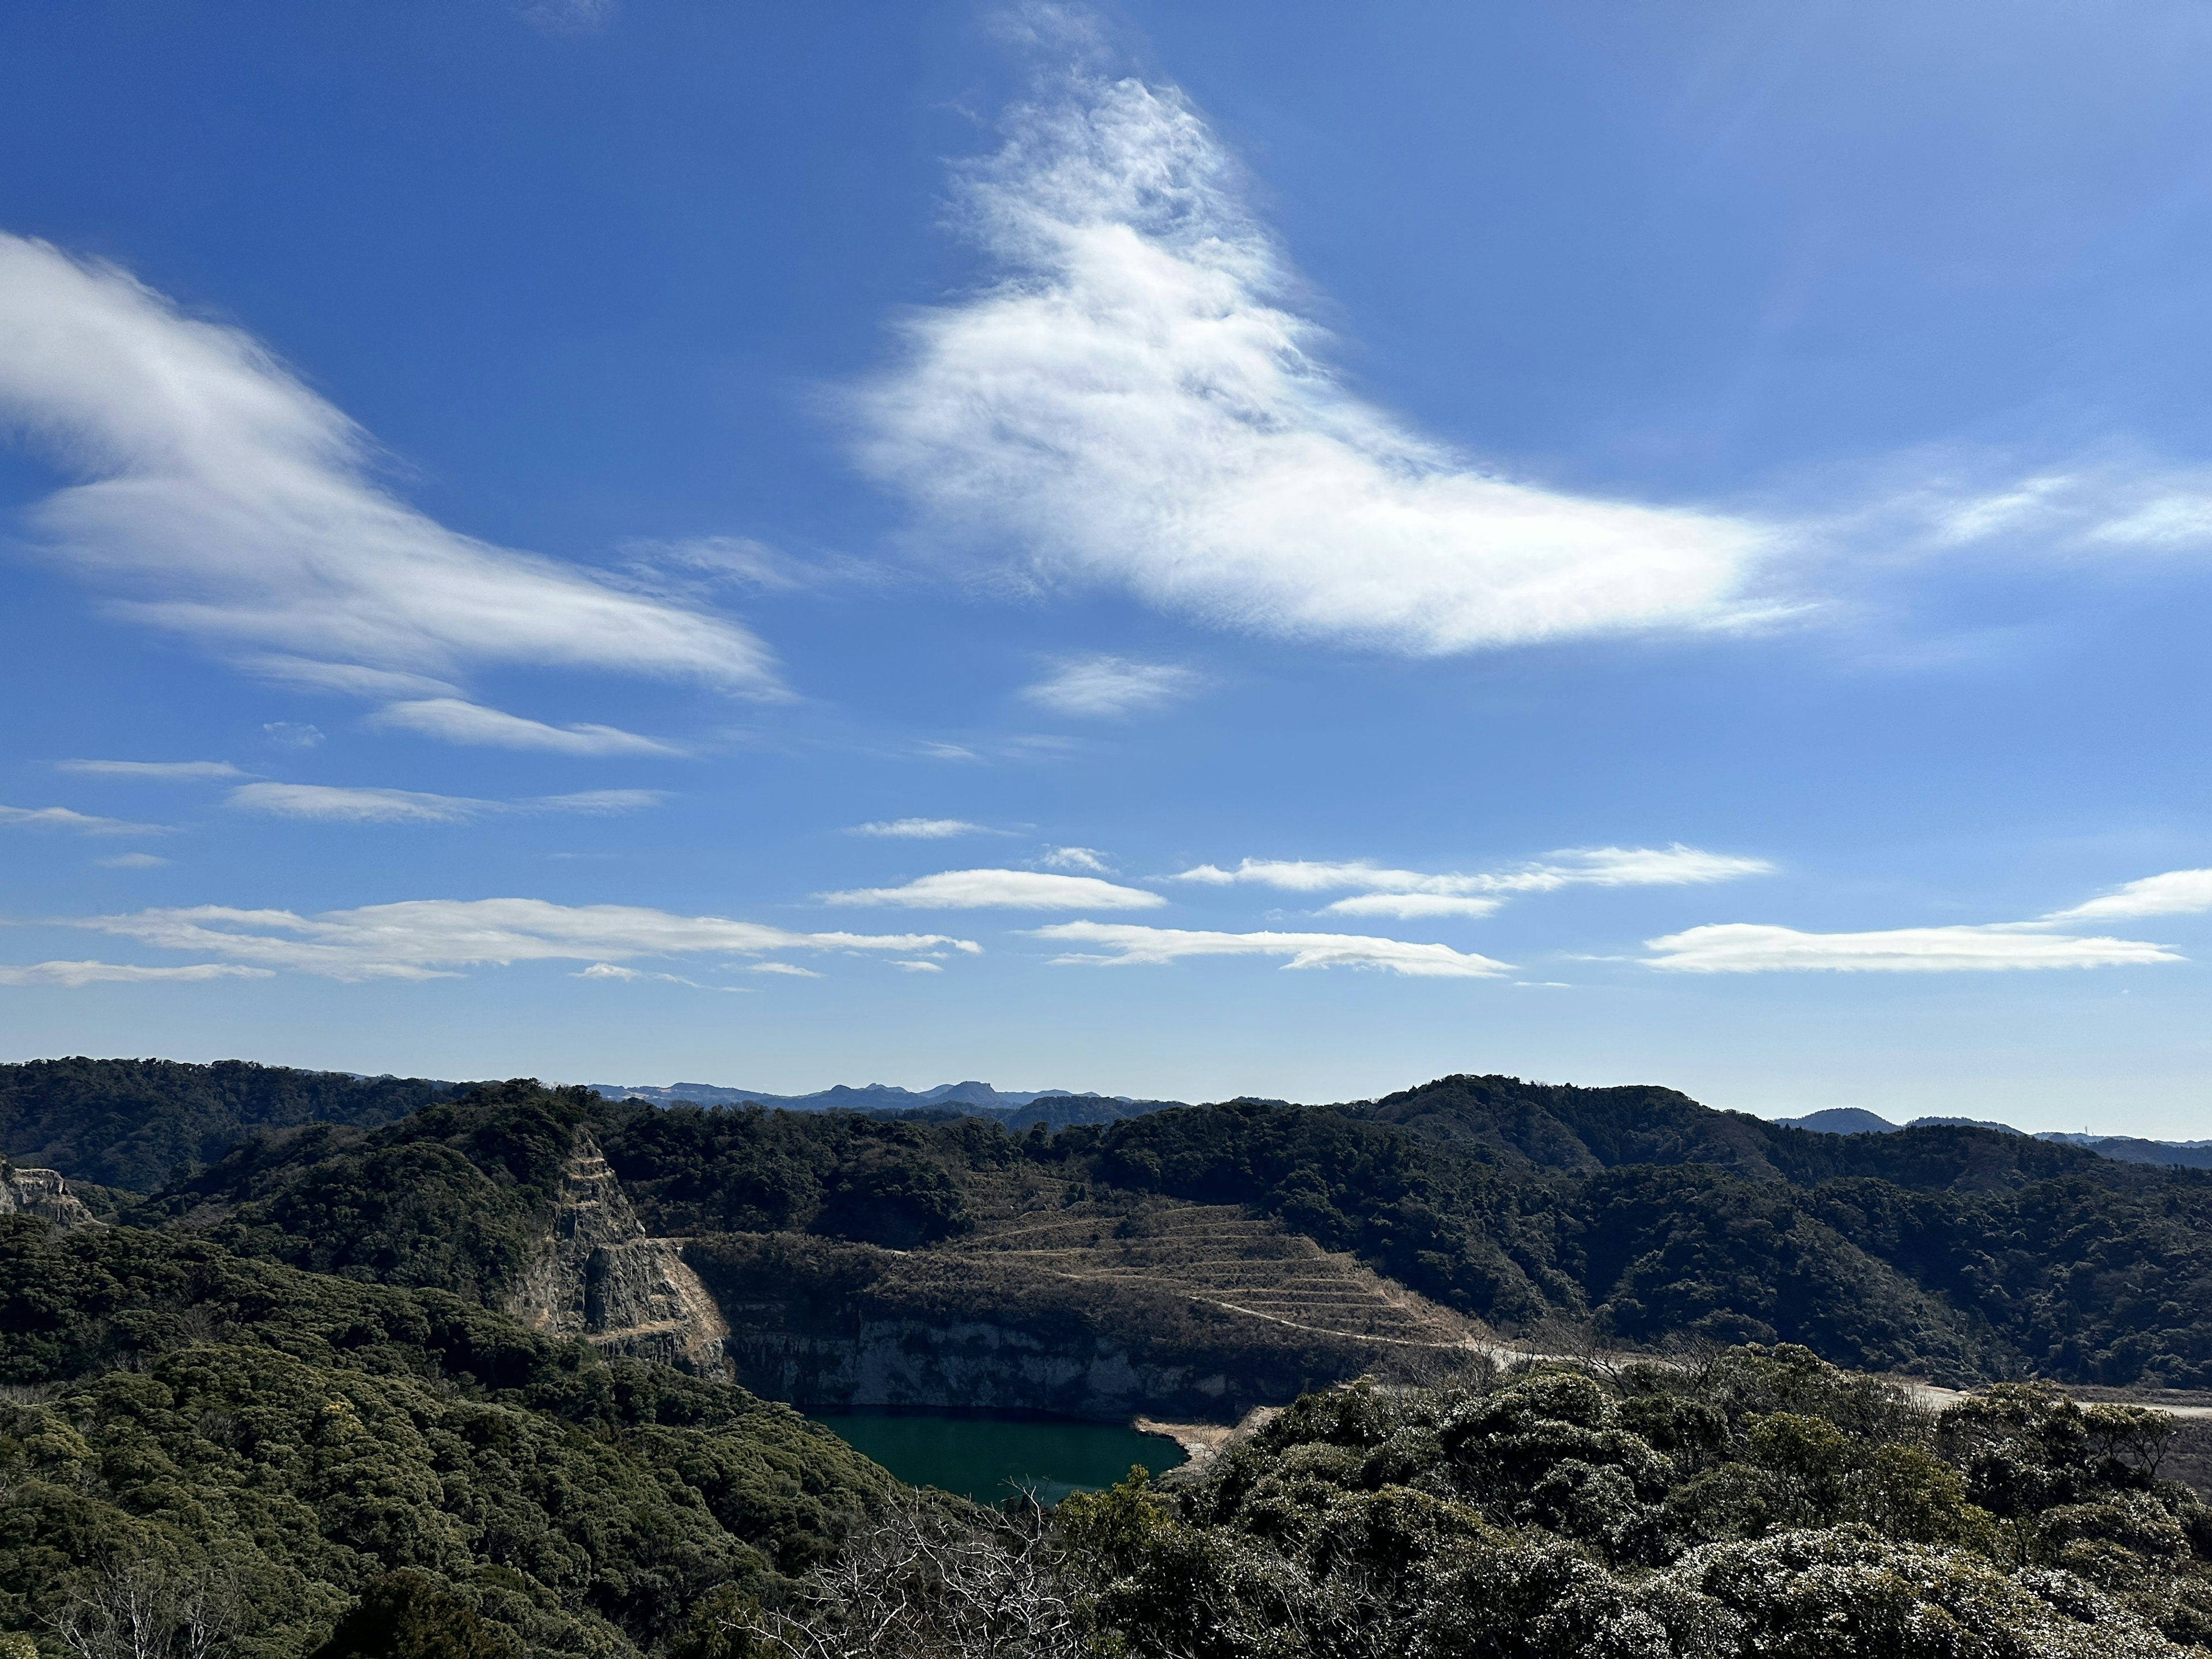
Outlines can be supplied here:
M553 1225L507 1298L507 1312L551 1336L582 1336L641 1360L723 1376L728 1327L681 1239L648 1239L591 1130L562 1166Z

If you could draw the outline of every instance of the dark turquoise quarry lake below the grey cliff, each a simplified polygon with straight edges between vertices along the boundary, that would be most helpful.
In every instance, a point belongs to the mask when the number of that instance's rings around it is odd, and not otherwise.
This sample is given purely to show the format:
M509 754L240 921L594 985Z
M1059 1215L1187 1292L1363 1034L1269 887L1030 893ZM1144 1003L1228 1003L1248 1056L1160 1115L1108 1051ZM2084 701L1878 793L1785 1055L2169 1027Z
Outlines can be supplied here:
M1057 1504L1071 1491L1110 1486L1141 1462L1164 1475L1183 1449L1157 1433L1110 1422L931 1411L927 1407L854 1407L807 1411L854 1451L874 1458L916 1486L942 1486L980 1504L1033 1491Z

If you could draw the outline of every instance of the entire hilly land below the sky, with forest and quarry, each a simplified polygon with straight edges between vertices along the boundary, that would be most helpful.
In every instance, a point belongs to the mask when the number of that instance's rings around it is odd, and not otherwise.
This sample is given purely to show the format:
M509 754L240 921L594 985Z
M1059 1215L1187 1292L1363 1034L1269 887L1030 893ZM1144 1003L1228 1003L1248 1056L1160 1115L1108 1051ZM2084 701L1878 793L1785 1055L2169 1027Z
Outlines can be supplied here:
M781 1659L867 1606L964 1652L920 1562L1079 1597L1068 1655L1245 1659L1285 1619L1301 1655L1794 1655L1812 1584L1847 1659L1964 1621L1997 1646L1924 1652L2212 1650L2197 1170L1504 1077L1022 1133L33 1082L0 1119L60 1148L0 1179L0 1635L33 1646L104 1559L219 1590L237 1659L392 1597L476 1659ZM1159 1480L1108 1467L1155 1447ZM971 1502L1009 1480L1053 1506ZM1469 1606L1491 1635L1436 1624Z

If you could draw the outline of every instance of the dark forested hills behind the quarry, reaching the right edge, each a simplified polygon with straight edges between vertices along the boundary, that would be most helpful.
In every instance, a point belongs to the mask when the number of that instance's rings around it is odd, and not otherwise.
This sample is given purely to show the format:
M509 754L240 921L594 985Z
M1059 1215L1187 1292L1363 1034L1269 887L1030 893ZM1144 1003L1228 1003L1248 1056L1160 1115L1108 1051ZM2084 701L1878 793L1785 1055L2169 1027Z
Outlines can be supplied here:
M86 1115L106 1121L117 1093L91 1091ZM175 1115L197 1121L201 1097L184 1091ZM55 1108L42 1124L49 1144L73 1133ZM664 1234L927 1245L969 1225L964 1181L1029 1164L1250 1206L1502 1329L1787 1340L1944 1383L2212 1387L2212 1172L1980 1128L1818 1135L1663 1088L1447 1077L1340 1108L1230 1102L1009 1135L949 1113L659 1108L518 1082L398 1121L261 1128L115 1214L495 1303L584 1124ZM142 1133L173 1135L155 1110Z

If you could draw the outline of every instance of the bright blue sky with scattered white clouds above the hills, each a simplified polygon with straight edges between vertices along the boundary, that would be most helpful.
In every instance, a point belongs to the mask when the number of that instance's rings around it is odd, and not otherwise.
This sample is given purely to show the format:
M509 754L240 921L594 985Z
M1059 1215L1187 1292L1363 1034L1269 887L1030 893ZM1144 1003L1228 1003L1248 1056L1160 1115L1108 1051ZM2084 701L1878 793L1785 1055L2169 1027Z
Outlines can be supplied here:
M0 1048L2212 1117L2194 4L0 18Z

